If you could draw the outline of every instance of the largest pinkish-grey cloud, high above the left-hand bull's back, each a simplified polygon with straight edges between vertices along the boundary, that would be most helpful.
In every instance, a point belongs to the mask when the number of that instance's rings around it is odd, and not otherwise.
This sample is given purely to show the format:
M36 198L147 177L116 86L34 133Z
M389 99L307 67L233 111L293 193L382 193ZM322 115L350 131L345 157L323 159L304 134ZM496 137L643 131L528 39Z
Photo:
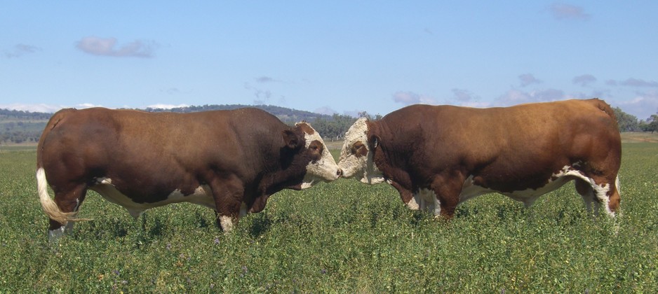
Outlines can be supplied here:
M98 38L88 36L82 38L76 48L91 55L112 57L153 57L153 50L157 44L152 41L133 41L116 49L116 38Z

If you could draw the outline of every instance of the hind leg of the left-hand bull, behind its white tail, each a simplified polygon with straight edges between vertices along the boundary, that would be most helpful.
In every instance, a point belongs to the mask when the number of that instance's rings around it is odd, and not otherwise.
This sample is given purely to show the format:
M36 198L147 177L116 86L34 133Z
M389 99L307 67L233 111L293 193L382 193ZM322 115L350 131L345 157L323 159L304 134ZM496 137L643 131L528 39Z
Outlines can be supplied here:
M87 186L80 185L69 190L62 190L55 193L55 204L60 211L64 213L76 213L84 201L87 194ZM59 220L50 219L48 226L48 239L56 240L62 235L70 234L73 231L72 220L66 220L63 223Z

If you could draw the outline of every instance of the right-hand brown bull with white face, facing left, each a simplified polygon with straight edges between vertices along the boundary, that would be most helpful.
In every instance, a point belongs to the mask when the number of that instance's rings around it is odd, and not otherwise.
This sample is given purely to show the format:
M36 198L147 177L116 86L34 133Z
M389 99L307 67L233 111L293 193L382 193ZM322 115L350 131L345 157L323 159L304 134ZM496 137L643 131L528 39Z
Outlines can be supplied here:
M619 211L621 139L599 99L472 109L413 105L360 118L338 166L362 183L387 182L410 209L451 218L461 202L497 192L526 207L575 181L586 208Z

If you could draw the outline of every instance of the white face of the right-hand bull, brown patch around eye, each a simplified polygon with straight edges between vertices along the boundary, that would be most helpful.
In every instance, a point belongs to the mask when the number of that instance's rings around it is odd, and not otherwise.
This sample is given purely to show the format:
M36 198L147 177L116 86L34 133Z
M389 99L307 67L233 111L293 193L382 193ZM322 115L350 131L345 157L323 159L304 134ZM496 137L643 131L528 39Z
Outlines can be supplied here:
M338 167L342 169L342 176L344 178L354 177L361 183L368 183L371 185L382 183L384 175L375 166L372 160L372 152L368 147L368 120L359 118L354 125L349 127L345 133L345 142L340 151L340 159L338 160ZM368 151L366 156L357 157L352 153L352 148L357 143L363 144L364 148Z

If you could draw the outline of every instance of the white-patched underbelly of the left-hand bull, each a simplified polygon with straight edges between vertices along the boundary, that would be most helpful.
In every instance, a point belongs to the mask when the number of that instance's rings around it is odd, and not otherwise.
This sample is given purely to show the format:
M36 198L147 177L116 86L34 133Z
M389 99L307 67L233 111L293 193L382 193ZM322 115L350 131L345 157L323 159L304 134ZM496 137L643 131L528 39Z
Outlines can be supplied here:
M165 200L159 202L151 203L137 203L134 202L130 197L123 195L119 190L117 190L114 185L112 185L111 179L98 179L98 184L90 187L90 190L95 191L100 194L105 200L118 204L121 207L128 209L128 213L134 218L140 216L145 210L152 209L154 207L161 207L163 205L177 203L177 202L190 202L194 204L203 205L204 207L209 207L215 209L215 200L213 199L213 193L210 190L210 187L207 185L201 185L194 193L190 195L183 195L180 193L180 190L173 190Z

